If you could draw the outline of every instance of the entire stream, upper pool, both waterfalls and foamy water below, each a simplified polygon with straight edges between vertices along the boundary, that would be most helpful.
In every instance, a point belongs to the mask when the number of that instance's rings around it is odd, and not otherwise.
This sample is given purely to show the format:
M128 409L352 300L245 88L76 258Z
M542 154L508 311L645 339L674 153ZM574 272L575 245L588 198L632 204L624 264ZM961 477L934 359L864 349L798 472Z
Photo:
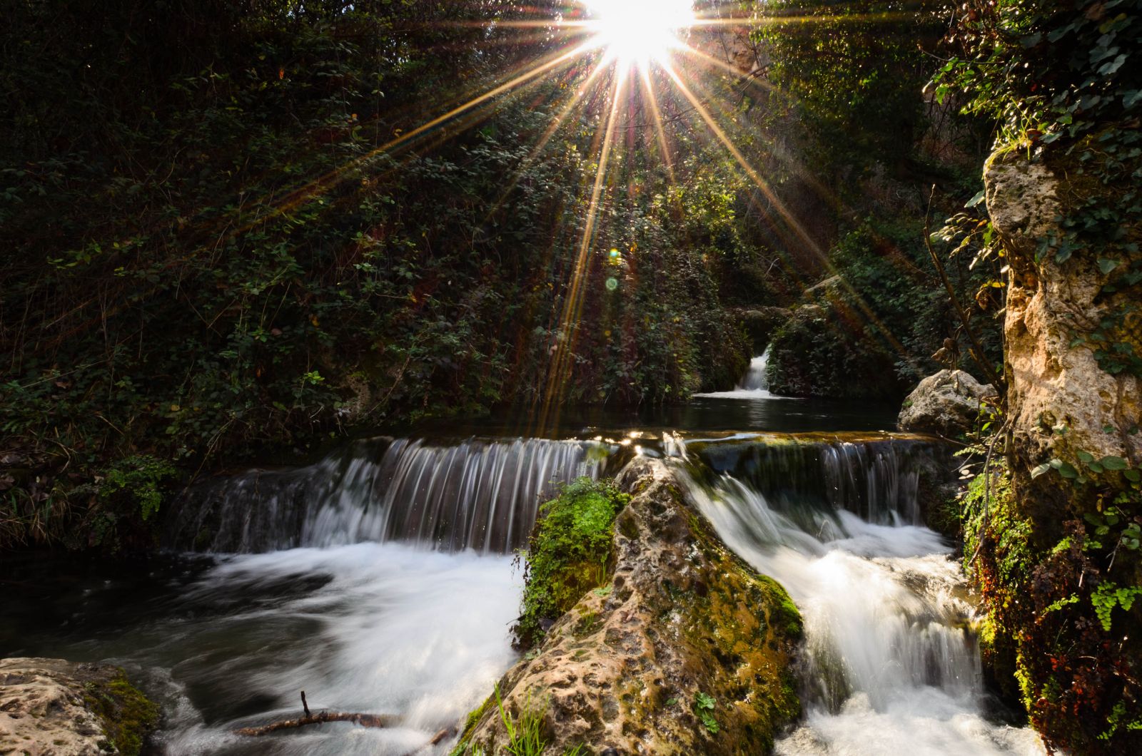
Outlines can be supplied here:
M513 553L538 502L645 453L673 457L727 546L804 613L806 717L778 753L1043 754L983 690L952 545L918 524L931 442L878 432L893 424L743 383L658 417L565 418L549 439L477 421L359 440L196 484L144 568L11 562L0 657L123 666L162 706L164 754L443 755L455 739L418 749L517 658ZM297 716L301 690L401 725L232 733Z

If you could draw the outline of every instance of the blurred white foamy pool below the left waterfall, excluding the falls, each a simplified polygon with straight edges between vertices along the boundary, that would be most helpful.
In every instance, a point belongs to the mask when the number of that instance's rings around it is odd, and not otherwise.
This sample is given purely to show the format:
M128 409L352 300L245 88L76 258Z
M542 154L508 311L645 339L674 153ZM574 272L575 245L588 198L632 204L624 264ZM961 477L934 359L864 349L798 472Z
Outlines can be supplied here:
M171 755L403 755L480 705L513 661L520 582L510 556L394 544L228 557L122 635L83 643L166 691ZM243 738L236 727L314 711L397 726L327 724ZM450 741L419 754L447 754Z

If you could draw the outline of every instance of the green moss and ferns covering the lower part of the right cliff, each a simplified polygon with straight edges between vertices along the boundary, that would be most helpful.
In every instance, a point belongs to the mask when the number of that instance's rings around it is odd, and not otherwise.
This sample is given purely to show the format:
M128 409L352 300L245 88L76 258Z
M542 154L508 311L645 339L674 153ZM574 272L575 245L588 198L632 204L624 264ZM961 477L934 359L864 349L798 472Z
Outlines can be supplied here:
M1117 485L1087 478L1107 464ZM1023 514L1004 465L975 477L964 499L965 553L978 552L971 570L988 608L984 653L1051 741L1076 754L1126 753L1142 729L1131 614L1142 594L1140 473L1119 458L1053 468L1075 485L1061 528ZM1078 516L1091 499L1096 507Z

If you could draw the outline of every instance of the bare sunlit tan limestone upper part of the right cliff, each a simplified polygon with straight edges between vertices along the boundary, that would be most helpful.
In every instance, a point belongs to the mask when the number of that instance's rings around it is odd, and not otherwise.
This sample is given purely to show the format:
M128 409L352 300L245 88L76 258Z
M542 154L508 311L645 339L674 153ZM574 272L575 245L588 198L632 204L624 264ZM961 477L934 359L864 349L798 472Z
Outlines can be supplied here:
M1142 463L1142 434L1128 433L1142 419L1140 381L1104 372L1089 347L1073 344L1077 331L1126 303L1099 297L1110 276L1093 255L1062 265L1035 259L1039 240L1055 231L1059 178L1047 164L997 153L984 180L1011 264L1004 331L1008 416L1024 468L1014 471L1016 477L1054 457L1073 459L1078 450Z

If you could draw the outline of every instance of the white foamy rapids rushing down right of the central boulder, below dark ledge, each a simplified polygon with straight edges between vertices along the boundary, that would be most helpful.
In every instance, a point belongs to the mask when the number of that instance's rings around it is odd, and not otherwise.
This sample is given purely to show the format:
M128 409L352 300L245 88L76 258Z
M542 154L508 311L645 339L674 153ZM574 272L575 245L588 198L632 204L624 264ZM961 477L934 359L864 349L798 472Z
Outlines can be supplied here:
M685 473L681 473L685 476ZM815 512L794 520L730 476L687 482L726 545L789 592L805 622L804 723L786 756L1042 756L987 717L959 565L940 536Z

